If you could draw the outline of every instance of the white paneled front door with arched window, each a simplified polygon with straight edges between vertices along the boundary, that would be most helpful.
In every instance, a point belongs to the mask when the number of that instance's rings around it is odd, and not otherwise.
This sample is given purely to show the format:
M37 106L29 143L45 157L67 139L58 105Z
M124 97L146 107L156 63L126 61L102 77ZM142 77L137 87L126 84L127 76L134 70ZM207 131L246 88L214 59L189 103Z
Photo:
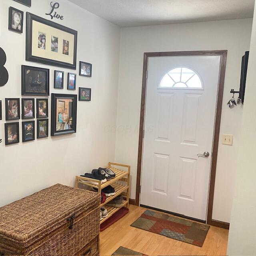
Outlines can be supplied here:
M219 70L220 56L148 59L140 204L206 220Z

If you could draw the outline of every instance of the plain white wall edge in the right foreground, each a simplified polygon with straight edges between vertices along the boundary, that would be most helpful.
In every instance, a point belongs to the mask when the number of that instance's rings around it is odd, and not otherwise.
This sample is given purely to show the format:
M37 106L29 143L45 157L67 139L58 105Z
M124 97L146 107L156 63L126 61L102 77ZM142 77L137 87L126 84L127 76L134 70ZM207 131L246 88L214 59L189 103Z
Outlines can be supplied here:
M256 255L256 7L246 78L241 140L236 161L227 255Z

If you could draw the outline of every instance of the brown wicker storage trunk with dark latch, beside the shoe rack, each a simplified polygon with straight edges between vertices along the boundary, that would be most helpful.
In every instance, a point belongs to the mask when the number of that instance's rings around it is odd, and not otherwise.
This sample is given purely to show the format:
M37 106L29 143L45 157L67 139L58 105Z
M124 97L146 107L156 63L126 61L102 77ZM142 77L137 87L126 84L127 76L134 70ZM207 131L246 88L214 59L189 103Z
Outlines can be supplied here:
M56 184L0 208L0 255L99 254L100 196Z

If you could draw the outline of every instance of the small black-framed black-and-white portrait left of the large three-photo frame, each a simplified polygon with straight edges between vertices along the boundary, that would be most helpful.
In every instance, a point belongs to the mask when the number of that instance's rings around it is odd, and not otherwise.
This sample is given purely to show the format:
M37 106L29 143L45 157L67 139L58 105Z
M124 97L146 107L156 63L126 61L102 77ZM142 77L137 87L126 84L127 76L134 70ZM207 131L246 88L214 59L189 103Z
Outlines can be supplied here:
M24 12L13 7L9 7L8 29L21 34L23 32L23 15Z

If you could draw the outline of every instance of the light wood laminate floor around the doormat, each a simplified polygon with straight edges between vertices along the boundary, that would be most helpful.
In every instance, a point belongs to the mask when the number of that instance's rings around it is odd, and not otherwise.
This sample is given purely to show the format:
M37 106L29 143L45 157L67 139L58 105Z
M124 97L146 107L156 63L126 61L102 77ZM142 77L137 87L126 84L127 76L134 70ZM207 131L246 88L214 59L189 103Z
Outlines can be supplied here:
M130 205L130 212L100 232L100 256L111 255L123 246L147 255L226 255L228 230L211 226L204 245L194 246L130 226L146 208Z

